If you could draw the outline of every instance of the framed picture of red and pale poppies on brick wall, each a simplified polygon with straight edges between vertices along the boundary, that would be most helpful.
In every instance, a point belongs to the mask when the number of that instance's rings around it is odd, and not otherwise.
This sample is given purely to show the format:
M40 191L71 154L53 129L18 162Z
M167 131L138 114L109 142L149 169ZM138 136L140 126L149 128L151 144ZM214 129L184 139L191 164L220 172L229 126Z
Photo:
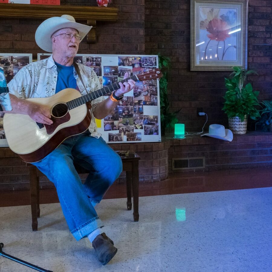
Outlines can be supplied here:
M248 0L191 0L191 71L247 69Z

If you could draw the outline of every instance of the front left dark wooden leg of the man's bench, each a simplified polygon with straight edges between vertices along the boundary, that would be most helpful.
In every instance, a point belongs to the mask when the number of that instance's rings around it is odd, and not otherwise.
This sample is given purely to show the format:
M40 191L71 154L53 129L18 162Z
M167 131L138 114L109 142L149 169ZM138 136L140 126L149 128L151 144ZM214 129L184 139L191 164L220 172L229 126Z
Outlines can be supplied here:
M37 220L37 174L36 167L29 167L29 189L30 189L30 205L31 205L31 216L32 216L32 230L37 231L38 220Z

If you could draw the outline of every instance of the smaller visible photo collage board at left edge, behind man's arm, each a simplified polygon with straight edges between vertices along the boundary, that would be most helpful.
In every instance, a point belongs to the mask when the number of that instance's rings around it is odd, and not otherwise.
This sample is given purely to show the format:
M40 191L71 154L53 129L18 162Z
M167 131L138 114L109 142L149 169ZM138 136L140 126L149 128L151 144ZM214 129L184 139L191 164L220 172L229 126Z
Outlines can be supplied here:
M3 68L7 83L13 79L18 71L32 62L32 54L0 53L0 67ZM4 113L0 112L0 147L7 147L8 142L3 128Z

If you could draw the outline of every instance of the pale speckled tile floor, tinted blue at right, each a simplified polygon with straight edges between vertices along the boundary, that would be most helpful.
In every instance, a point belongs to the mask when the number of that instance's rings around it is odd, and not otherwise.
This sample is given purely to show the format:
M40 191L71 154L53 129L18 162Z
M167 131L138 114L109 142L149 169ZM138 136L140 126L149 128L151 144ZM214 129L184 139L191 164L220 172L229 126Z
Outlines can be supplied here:
M54 272L271 271L272 188L140 197L139 222L126 199L96 210L118 248L106 266L87 239L74 240L59 203L41 205L37 232L29 206L1 208L3 250ZM0 271L33 270L0 257Z

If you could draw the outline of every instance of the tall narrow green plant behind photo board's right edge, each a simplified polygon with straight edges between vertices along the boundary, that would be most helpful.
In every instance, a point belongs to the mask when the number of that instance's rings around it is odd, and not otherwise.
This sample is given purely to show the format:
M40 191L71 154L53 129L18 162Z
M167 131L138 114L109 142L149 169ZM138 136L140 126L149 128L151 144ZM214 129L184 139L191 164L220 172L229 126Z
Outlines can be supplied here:
M168 101L168 70L170 68L170 58L162 56L158 53L159 59L159 68L163 73L163 76L160 78L160 128L161 135L165 134L165 128L174 128L175 124L178 122L176 112L169 111L169 101Z

